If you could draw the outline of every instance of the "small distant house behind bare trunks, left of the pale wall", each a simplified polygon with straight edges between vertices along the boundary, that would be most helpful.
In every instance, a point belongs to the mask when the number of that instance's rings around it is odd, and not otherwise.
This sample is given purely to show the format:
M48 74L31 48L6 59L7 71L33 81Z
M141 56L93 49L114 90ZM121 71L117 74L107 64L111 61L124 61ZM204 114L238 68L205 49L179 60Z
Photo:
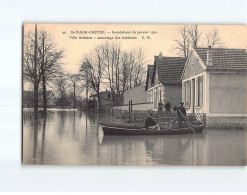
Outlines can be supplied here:
M107 107L112 107L115 102L115 93L113 91L102 91L99 93L101 109L104 110ZM99 109L98 95L91 95L89 98L89 107L93 109Z

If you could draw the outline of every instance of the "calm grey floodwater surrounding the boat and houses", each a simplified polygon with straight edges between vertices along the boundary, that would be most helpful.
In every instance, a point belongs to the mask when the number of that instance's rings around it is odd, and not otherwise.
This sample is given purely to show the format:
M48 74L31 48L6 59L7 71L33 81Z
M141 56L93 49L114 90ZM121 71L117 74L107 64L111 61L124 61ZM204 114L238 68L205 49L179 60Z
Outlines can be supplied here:
M38 126L23 114L25 165L246 165L246 129L202 134L104 136L99 121L111 115L53 109Z

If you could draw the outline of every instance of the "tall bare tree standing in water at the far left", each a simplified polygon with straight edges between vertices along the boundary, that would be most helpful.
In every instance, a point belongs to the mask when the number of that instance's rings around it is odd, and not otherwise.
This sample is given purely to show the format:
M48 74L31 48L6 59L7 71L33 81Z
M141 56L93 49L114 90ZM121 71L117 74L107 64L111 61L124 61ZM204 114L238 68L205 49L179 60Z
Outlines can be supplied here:
M46 31L39 30L35 34L27 32L24 35L23 78L32 83L34 89L39 88L42 84L43 106L46 112L46 88L48 83L52 82L53 78L60 72L60 60L63 57L63 51L57 49L52 36ZM32 52L35 47L36 52ZM38 96L38 91L36 91L34 94Z

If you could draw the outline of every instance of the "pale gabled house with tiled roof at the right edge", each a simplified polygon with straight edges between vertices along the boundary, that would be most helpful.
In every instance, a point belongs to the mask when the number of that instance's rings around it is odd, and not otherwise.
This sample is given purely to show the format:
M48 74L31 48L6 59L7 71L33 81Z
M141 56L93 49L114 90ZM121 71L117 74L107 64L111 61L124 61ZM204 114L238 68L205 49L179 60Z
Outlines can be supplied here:
M245 125L245 49L193 48L181 78L182 99L188 113L206 113L208 127Z

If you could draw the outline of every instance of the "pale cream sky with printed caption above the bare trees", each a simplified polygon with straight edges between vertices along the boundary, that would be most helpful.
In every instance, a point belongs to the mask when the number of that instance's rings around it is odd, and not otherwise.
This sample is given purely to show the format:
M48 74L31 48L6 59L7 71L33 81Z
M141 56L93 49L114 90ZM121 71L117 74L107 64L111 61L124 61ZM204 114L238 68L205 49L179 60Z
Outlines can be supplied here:
M45 29L50 33L55 43L57 43L57 47L65 51L62 60L64 71L77 73L84 54L95 46L106 42L106 39L98 39L98 37L113 37L114 39L108 41L120 42L122 48L127 51L134 48L143 48L146 65L153 64L154 56L159 55L160 52L163 56L178 56L174 40L180 38L180 30L183 26L157 24L38 24L37 28ZM202 32L199 45L206 46L203 44L205 43L205 33L218 29L224 47L247 49L246 25L199 25L198 27ZM24 33L34 31L34 28L34 24L24 24ZM85 34L85 31L87 34ZM104 31L106 34L92 35L89 33L91 31ZM113 34L112 31L128 31L131 34ZM77 36L77 39L71 39L70 36ZM79 39L79 36L91 36L92 39ZM121 38L122 36L130 36L137 37L137 39L116 40L116 36ZM145 39L142 39L142 36Z

